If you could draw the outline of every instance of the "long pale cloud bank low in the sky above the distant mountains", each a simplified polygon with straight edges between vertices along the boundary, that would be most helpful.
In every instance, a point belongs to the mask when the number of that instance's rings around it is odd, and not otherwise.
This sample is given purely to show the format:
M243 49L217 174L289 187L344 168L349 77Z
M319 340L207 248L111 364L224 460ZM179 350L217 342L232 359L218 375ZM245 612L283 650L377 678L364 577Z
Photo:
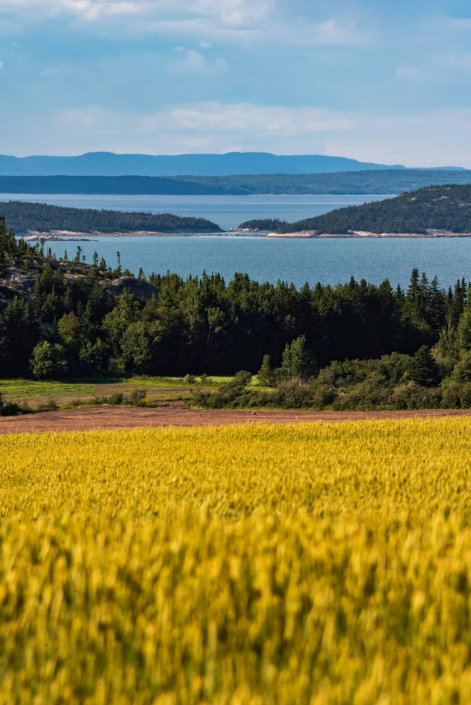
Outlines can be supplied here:
M61 112L42 128L49 153L333 154L410 167L471 167L471 109L410 115L314 107L200 103L139 115L99 107ZM27 150L24 144L18 151Z

